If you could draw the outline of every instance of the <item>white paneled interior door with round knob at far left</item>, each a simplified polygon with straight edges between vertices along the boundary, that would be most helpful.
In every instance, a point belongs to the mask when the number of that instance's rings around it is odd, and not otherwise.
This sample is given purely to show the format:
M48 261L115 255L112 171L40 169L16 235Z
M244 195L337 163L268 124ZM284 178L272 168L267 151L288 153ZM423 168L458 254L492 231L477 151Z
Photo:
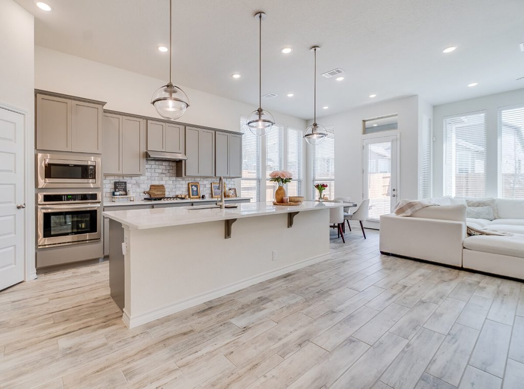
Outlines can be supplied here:
M24 280L24 116L0 108L0 290Z

